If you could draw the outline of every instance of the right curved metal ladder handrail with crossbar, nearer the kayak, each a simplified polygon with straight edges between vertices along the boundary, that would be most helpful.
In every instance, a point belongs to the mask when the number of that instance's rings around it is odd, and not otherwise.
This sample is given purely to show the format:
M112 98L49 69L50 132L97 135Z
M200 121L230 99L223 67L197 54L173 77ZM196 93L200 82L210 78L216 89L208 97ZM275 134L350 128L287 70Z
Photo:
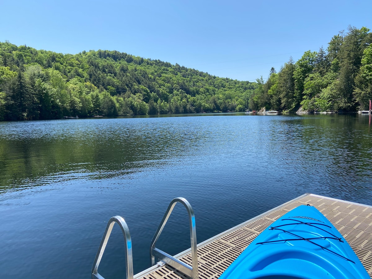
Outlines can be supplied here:
M187 209L187 213L189 214L189 224L190 224L190 242L191 242L191 260L192 260L192 267L190 267L188 264L185 264L181 262L178 259L175 259L174 257L170 256L169 254L159 250L158 248L155 248L156 241L158 240L161 232L163 231L163 228L168 221L168 218L173 211L174 206L176 203L182 203L183 206ZM198 254L196 251L196 228L195 228L195 215L194 211L190 205L190 203L185 198L175 198L173 199L166 211L166 213L163 216L163 219L160 222L160 225L155 232L154 238L151 241L150 246L150 257L151 257L151 266L155 265L155 255L164 263L169 264L170 266L180 270L181 272L185 273L186 275L190 276L193 279L199 278L198 273Z

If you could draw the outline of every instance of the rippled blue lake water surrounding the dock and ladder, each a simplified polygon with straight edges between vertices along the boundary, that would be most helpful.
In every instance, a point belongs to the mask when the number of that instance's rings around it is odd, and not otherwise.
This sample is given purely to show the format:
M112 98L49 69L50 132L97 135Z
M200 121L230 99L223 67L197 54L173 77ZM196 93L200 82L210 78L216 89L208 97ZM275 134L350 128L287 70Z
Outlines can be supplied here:
M171 199L198 243L310 192L372 205L368 115L193 115L0 122L0 278L90 278L125 218L134 273ZM190 247L177 205L157 247ZM99 273L125 277L113 228Z

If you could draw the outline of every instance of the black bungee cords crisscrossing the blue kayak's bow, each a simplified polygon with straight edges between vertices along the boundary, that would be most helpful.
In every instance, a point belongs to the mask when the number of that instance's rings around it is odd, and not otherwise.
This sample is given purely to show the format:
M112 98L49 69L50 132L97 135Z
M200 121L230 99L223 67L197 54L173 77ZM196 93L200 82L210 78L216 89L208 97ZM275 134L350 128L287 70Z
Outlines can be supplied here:
M340 242L343 242L343 240L340 237L337 237L336 235L331 234L330 232L328 232L326 230L323 230L322 228L319 228L319 227L317 227L315 225L323 225L323 226L326 226L328 228L331 228L330 226L325 225L325 224L320 224L320 223L302 222L302 221L294 220L294 219L282 219L282 221L284 221L284 220L297 221L298 223L291 223L291 224L279 225L279 226L276 226L276 227L270 227L269 230L280 230L280 231L286 232L286 233L291 234L291 235L293 235L295 237L298 237L298 238L295 238L295 239L273 240L273 241L264 241L264 242L256 243L256 245L257 244L267 244L267 243L283 242L283 241L286 242L286 241L295 241L295 240L305 240L305 241L308 241L308 242L310 242L310 243L312 243L312 244L314 244L316 246L319 246L320 248L322 248L324 250L327 250L328 252L331 252L331 253L335 254L336 256L339 256L339 257L341 257L341 258L343 258L343 259L345 259L345 260L347 260L347 261L352 262L352 263L355 264L355 262L353 260L350 260L347 257L344 257L344 256L340 255L339 253L336 253L336 252L334 252L334 251L332 251L332 250L330 250L330 249L328 249L328 248L326 248L324 246L321 246L320 244L317 244L317 243L311 241L311 240L317 240L317 239L324 239L324 240L325 239L334 239L334 240L338 240ZM288 225L309 225L311 227L315 227L315 228L317 228L319 230L325 231L325 232L327 232L328 234L330 234L332 236L331 237L311 237L311 238L304 238L304 237L301 237L300 235L294 234L293 232L286 231L286 230L283 230L283 229L280 229L279 228L279 227L288 226Z

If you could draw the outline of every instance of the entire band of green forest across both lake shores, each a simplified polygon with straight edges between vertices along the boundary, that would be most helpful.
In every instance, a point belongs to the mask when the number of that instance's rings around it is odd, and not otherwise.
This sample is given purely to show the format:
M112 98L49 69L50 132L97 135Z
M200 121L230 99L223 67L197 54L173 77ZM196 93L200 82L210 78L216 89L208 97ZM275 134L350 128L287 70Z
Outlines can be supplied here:
M349 26L257 82L118 51L61 54L0 42L0 120L244 111L350 111L372 98L372 33Z

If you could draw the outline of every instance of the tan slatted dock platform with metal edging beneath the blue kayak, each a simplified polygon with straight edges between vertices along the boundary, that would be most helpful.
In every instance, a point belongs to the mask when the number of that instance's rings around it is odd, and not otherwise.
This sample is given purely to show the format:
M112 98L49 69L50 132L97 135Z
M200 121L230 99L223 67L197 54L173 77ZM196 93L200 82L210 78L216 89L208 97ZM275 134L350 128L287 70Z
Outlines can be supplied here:
M265 228L302 204L315 206L347 240L372 278L372 206L305 194L198 244L199 278L219 278L228 266ZM177 259L191 265L190 249ZM135 279L185 279L164 264L150 267Z

